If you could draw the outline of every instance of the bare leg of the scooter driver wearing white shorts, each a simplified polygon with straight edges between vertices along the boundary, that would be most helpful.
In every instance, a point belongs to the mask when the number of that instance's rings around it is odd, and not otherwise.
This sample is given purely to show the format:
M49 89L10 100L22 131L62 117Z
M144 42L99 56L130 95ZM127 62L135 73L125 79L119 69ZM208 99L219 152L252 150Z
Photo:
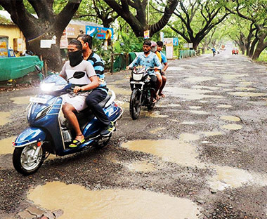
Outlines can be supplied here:
M84 135L82 134L82 131L79 128L78 119L77 119L76 115L74 114L74 112L76 112L75 108L71 104L65 103L63 105L62 110L63 110L63 114L65 115L67 120L70 122L70 124L74 128L74 131L76 133L76 138L74 138L74 139L82 142L82 140L84 140Z

